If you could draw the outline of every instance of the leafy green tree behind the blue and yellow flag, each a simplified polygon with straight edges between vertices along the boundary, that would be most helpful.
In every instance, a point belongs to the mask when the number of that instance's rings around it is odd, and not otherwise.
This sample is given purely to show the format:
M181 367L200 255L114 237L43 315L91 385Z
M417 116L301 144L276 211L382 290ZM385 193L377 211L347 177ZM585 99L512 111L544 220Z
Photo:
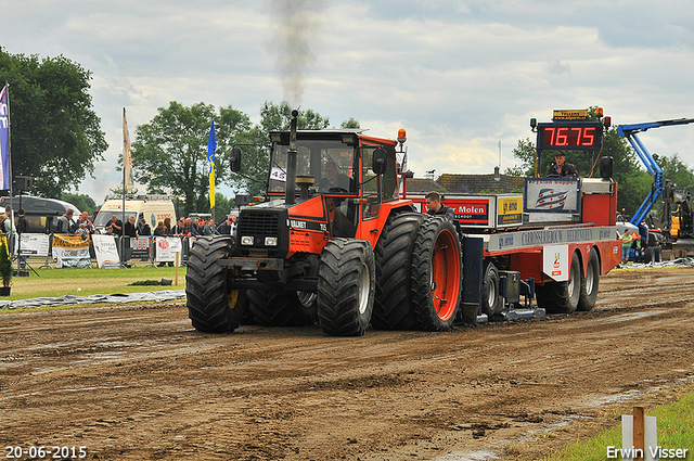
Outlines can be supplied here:
M132 170L137 182L149 192L183 197L183 214L209 209L209 163L207 140L213 118L217 151L215 182L229 180L232 145L246 142L252 131L248 116L231 105L215 111L197 103L185 107L172 101L159 107L149 123L136 128Z

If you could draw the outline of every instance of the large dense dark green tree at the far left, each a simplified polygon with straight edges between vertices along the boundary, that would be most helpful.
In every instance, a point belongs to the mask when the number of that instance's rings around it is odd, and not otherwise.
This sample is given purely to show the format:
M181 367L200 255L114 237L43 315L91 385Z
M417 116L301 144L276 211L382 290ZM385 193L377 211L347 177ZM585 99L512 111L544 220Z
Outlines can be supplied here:
M0 81L10 84L12 175L35 178L38 195L74 190L108 148L89 94L91 72L60 55L10 54L0 47Z

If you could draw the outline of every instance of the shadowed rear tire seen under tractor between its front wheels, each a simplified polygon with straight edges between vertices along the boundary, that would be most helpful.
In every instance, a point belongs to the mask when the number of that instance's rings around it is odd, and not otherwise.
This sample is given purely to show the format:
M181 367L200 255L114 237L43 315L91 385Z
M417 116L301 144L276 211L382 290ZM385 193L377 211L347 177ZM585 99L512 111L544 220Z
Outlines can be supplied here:
M248 290L253 320L266 326L305 326L316 323L316 293Z

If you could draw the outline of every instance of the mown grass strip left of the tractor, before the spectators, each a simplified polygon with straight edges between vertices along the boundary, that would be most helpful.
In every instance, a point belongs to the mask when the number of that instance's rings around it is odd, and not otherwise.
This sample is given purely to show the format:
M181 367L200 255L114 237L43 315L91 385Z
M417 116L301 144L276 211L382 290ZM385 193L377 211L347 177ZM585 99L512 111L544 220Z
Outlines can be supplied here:
M37 276L38 273L38 276ZM171 285L131 285L133 282L171 279ZM159 290L185 290L185 267L178 268L178 285L174 267L131 267L124 269L36 269L29 277L12 278L11 296L0 300L64 295L140 293Z

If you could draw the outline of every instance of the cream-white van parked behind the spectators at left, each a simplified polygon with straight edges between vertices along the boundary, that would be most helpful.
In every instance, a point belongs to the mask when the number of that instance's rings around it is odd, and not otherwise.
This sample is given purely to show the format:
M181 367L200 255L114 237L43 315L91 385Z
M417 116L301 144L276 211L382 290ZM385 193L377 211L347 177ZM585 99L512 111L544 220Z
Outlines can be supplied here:
M150 225L152 230L156 228L158 221L165 218L171 218L171 226L176 225L176 210L174 202L168 195L126 195L126 213L123 219L123 197L110 196L101 206L97 218L94 218L94 228L100 232L111 222L111 217L116 217L121 221L127 221L130 216L134 216L136 222L140 222L141 218Z

